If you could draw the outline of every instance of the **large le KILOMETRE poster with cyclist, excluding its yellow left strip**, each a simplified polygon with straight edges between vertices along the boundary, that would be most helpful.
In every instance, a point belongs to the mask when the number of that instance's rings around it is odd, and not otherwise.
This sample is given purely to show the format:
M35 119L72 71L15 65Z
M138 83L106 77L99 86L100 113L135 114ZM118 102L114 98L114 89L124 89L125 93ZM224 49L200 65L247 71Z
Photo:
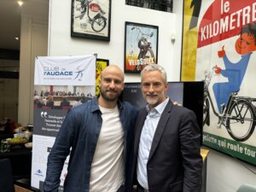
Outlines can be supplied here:
M199 15L195 80L205 80L203 143L256 165L256 3L186 3Z

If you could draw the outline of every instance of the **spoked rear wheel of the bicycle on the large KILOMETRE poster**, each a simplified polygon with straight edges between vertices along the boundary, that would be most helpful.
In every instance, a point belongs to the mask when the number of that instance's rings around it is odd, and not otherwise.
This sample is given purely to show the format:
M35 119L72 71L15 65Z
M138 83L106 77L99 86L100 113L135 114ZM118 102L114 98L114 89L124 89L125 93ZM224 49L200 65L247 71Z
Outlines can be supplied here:
M252 104L247 101L233 102L227 119L226 128L230 137L239 142L246 141L255 128L255 112Z

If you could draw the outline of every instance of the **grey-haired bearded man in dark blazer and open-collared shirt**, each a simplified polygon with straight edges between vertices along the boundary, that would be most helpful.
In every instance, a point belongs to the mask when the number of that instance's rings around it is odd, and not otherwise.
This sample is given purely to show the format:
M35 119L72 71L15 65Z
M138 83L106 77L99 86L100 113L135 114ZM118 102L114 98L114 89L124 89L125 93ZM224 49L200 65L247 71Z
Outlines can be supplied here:
M134 138L137 192L200 192L201 135L195 113L166 96L166 71L160 65L145 67L141 78L147 106L137 116Z

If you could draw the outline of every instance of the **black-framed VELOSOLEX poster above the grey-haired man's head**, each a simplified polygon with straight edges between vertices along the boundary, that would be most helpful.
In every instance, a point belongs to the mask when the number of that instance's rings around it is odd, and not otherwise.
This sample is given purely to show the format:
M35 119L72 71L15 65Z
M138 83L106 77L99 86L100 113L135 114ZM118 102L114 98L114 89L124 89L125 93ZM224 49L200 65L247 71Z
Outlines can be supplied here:
M157 64L158 26L125 22L125 73Z

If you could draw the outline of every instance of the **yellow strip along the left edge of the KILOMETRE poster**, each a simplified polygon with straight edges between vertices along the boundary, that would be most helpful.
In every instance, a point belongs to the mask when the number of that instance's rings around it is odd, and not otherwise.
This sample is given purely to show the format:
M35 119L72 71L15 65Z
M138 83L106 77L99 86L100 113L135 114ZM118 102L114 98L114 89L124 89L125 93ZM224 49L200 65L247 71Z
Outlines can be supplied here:
M195 81L198 29L194 27L189 30L189 24L194 9L193 7L190 8L191 2L192 0L184 1L181 81Z

